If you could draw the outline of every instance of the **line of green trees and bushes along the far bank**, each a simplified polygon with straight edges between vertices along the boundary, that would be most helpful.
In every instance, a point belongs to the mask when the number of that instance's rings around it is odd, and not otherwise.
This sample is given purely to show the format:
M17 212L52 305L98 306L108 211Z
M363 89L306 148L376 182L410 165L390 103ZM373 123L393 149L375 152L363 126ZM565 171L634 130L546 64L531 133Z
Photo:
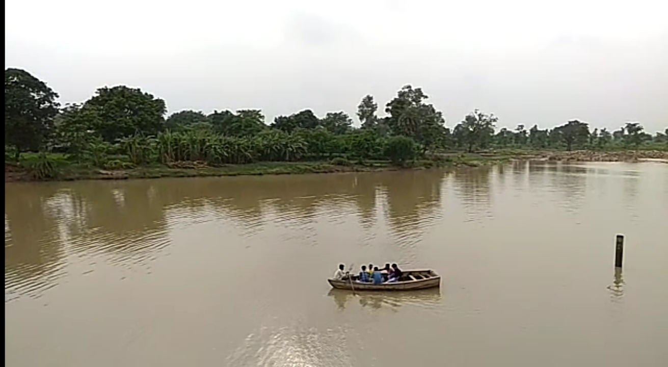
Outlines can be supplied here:
M385 104L373 96L357 106L359 128L345 112L318 117L305 109L267 124L261 110L184 110L166 116L164 100L139 88L102 87L86 102L61 106L58 94L25 70L5 70L5 157L61 152L103 164L125 154L133 164L201 160L210 164L332 158L403 162L425 154L492 148L538 150L668 148L668 128L651 135L638 122L619 130L591 130L570 120L551 129L520 124L496 129L498 118L480 110L446 127L422 88L403 86Z

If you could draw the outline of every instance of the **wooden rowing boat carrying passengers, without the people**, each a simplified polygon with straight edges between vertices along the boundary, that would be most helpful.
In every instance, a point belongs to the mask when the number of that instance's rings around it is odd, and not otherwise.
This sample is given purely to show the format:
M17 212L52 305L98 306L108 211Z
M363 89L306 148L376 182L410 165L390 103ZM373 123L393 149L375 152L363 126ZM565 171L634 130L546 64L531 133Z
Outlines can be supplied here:
M358 277L359 275L351 274L352 279L327 279L327 281L334 288L354 289L355 291L414 291L441 286L441 276L430 269L404 270L401 279L392 283L360 283L357 281Z

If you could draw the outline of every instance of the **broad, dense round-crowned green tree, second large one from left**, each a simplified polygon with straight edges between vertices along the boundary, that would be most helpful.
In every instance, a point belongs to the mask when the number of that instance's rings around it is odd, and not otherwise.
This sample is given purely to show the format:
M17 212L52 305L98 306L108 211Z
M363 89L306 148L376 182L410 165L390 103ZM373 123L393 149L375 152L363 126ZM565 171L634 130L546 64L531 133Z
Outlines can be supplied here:
M164 128L167 110L164 100L128 86L99 88L96 95L83 104L83 108L95 110L100 116L92 127L107 142L133 136L137 132L157 134Z

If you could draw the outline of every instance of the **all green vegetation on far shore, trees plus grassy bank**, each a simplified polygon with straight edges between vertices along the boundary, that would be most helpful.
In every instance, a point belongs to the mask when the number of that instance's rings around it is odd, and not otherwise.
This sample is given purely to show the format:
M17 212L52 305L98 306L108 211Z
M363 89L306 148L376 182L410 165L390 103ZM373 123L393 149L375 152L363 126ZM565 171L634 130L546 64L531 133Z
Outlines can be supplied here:
M475 166L512 158L510 149L668 150L668 128L652 136L637 122L615 132L578 120L497 132L496 116L474 110L450 130L412 86L385 104L383 117L373 96L362 98L360 128L345 112L319 118L311 110L269 125L261 110L184 110L165 119L164 100L126 86L99 88L64 108L57 98L28 72L5 70L5 180L7 172L47 180Z

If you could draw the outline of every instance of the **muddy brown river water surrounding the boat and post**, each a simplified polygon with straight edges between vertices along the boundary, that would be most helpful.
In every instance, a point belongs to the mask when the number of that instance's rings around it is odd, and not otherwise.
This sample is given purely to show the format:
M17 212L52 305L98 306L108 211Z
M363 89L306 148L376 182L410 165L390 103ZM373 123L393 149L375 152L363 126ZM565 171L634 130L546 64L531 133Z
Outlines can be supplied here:
M667 228L657 162L11 183L5 362L667 366ZM442 287L325 280L390 261Z

